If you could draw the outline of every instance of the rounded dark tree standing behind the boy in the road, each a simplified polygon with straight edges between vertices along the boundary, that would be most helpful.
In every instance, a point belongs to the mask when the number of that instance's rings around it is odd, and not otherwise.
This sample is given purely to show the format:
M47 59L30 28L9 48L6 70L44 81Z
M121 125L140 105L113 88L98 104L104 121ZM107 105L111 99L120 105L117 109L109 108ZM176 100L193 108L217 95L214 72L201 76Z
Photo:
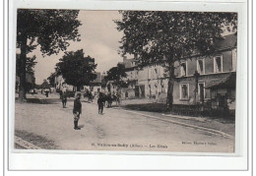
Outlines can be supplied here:
M77 90L96 80L95 59L90 56L84 57L83 49L65 52L55 69L57 75L62 75L65 82L77 87Z

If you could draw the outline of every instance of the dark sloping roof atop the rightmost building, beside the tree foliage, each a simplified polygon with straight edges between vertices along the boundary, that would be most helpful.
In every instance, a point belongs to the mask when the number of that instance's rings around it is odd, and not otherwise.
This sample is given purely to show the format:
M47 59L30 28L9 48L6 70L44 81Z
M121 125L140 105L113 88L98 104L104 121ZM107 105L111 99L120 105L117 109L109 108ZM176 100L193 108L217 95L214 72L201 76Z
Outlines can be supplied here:
M236 44L237 44L237 34L236 33L228 34L223 37L224 38L217 41L217 47L219 48L219 50L236 47Z

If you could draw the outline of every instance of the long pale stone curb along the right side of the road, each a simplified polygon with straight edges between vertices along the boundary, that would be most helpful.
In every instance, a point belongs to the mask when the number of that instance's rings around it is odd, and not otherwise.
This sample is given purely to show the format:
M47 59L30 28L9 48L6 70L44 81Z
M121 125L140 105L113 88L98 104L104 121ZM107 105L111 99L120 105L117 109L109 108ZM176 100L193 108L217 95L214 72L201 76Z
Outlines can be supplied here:
M173 120L161 119L160 117L147 115L147 114L142 114L142 113L139 113L139 112L133 112L133 111L130 111L130 110L124 110L124 109L122 109L122 110L126 111L126 112L133 113L133 114L141 115L141 116L144 116L144 117L150 117L150 118L153 118L153 119L158 119L160 121L169 122L169 123L173 123L173 124L177 124L177 125L182 125L182 126L197 129L197 130L202 130L202 131L208 132L210 134L219 135L219 136L227 138L227 139L231 139L231 140L234 139L233 136L228 135L228 134L226 134L224 132L221 132L219 130L208 129L208 128L205 128L205 127L199 127L199 126L190 125L190 124L186 124L186 123L182 123L182 122L176 122L176 121L173 121Z

